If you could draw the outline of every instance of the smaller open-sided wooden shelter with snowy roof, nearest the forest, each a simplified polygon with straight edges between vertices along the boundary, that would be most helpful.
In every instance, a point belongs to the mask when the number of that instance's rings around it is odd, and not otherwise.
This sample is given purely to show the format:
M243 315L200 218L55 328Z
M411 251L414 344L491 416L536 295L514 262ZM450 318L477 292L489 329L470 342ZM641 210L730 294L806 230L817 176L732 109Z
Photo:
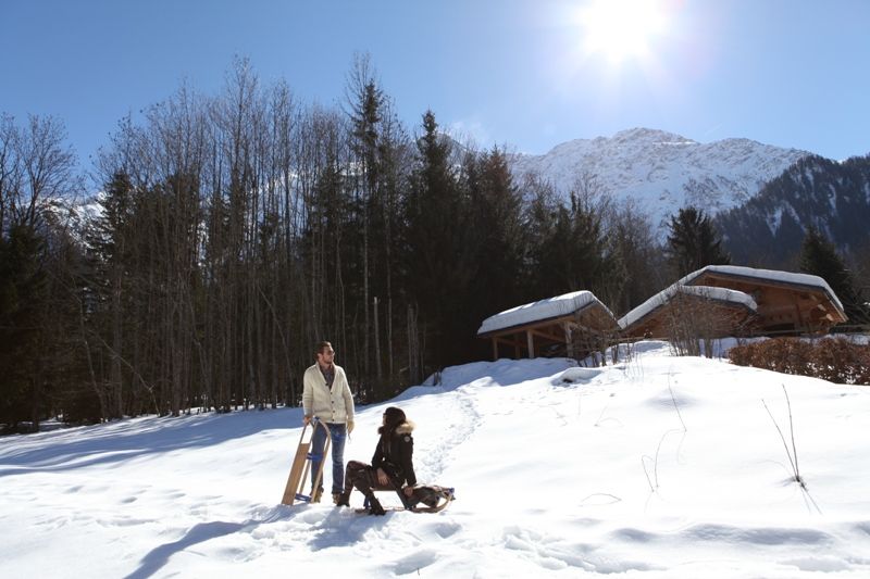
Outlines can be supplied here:
M617 319L589 291L512 307L483 320L477 337L493 343L493 360L583 355L587 344L619 331Z

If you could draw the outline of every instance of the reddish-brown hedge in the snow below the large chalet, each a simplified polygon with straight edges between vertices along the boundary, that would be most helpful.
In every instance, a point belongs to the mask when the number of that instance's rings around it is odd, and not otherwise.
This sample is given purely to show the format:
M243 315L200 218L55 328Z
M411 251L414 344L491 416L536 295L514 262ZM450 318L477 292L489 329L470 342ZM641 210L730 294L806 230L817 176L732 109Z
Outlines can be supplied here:
M836 383L870 385L870 345L854 344L842 338L823 338L817 342L773 338L736 345L728 355L738 366L811 376Z

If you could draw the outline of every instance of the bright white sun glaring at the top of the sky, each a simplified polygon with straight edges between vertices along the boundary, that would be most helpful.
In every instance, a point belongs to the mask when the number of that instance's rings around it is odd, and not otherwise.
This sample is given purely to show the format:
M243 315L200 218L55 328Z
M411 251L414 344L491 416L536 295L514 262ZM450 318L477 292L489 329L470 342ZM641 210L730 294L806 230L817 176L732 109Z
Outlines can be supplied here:
M577 17L584 50L614 63L647 58L667 24L662 0L592 0Z

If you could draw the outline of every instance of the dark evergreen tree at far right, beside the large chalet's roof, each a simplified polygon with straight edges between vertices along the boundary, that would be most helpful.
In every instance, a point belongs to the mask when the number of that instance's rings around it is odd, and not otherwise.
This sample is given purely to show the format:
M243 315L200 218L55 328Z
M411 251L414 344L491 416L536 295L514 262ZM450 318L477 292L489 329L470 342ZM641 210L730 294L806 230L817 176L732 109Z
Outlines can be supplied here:
M843 303L843 310L849 318L848 324L870 324L870 309L860 291L855 288L843 257L834 244L815 227L807 229L800 248L800 270L828 281Z

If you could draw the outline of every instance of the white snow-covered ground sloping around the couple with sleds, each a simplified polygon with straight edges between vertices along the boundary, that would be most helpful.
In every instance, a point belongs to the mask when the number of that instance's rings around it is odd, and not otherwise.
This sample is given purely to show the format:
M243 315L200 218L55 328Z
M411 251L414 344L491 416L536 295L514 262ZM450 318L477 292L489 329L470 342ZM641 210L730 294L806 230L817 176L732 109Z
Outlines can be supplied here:
M442 380L391 401L418 477L457 489L436 515L281 505L300 408L2 438L2 577L870 577L867 387L661 342ZM371 457L384 406L346 458Z

